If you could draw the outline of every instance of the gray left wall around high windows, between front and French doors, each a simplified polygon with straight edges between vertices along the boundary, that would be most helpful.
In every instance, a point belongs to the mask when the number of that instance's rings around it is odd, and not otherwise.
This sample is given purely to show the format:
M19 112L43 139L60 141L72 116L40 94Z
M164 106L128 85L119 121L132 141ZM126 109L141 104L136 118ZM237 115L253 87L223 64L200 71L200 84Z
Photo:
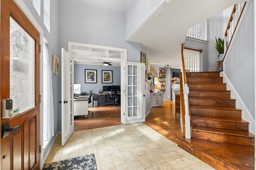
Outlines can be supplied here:
M44 25L44 1L41 0L41 12L40 16L36 12L32 2L30 0L23 0L26 4L40 27L44 31L44 37L48 41L50 57L52 61L52 55L58 55L58 0L50 1L50 33ZM54 75L52 76L52 92L53 92L53 102L54 102L54 135L61 130L61 107L59 100L61 100L61 76Z

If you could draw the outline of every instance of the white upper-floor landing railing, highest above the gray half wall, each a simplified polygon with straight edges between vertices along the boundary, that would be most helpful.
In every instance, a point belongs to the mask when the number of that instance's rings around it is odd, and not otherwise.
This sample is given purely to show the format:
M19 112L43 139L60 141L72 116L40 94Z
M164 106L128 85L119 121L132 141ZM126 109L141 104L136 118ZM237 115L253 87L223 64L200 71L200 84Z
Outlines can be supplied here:
M200 39L200 40L207 40L207 27L206 27L206 20L202 21L193 27L190 27L187 32L187 37Z

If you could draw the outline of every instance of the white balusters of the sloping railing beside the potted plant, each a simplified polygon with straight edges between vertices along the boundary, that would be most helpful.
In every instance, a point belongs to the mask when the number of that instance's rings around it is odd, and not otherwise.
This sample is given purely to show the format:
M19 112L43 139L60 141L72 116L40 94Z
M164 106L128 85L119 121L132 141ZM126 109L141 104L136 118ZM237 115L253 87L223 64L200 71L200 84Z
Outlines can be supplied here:
M230 20L228 22L227 29L224 33L224 54L226 54L228 46L230 45L232 36L234 34L234 31L236 30L237 24L240 20L240 17L242 15L245 5L246 5L246 2L242 2L234 5L232 14L230 16Z

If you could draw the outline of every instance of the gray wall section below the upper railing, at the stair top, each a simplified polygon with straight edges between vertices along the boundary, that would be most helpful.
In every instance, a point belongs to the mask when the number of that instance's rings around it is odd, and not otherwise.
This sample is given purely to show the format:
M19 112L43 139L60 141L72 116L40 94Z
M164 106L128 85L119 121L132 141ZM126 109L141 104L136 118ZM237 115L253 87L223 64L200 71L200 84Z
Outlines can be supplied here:
M201 71L202 72L207 72L208 66L209 66L209 47L208 47L208 41L197 41L194 39L186 38L184 47L192 48L192 49L199 49L202 50L203 52L200 53L200 64L201 64ZM215 49L216 50L216 49Z

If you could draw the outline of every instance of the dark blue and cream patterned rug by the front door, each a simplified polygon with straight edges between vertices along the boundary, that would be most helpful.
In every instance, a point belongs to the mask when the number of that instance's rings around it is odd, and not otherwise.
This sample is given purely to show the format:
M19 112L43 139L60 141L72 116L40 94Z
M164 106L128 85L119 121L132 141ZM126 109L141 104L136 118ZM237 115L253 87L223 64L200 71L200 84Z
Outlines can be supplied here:
M94 154L45 164L43 170L97 170Z

